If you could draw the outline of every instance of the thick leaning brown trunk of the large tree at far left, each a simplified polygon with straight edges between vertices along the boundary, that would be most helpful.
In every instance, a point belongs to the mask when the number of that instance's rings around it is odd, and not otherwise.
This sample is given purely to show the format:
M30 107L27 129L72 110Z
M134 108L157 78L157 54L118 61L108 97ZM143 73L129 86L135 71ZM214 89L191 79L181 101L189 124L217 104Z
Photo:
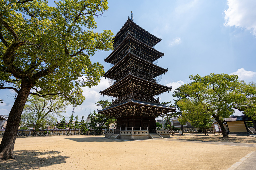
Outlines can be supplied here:
M26 104L31 83L22 81L17 98L9 113L5 133L0 144L0 160L15 159L13 156L13 148L16 140L16 134L19 128L20 116Z

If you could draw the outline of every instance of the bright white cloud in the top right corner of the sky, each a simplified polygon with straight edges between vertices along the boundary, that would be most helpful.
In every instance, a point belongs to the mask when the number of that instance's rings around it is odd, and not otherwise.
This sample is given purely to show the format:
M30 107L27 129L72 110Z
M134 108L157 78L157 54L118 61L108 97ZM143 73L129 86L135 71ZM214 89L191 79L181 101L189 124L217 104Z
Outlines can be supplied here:
M225 26L245 28L256 35L256 1L228 0L225 13Z

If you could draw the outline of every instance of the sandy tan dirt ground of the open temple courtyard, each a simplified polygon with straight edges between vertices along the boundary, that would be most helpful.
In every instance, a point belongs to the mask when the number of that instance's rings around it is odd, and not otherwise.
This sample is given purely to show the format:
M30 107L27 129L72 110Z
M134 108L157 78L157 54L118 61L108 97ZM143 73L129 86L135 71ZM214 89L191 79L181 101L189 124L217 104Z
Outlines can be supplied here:
M256 150L256 147L103 137L17 137L16 159L1 162L0 169L227 169ZM185 134L180 140L223 141L220 137ZM255 143L255 139L232 136L225 142Z

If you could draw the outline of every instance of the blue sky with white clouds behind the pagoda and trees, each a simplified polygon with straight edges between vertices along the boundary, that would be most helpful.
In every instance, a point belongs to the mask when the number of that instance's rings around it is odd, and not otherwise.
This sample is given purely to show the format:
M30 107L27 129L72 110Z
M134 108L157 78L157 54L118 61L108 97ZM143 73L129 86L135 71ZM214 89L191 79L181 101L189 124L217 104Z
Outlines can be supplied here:
M49 4L54 6L52 1ZM133 11L134 22L162 38L155 48L165 52L158 64L169 71L160 84L178 86L189 83L189 75L238 74L239 78L256 81L256 1L109 1L109 9L96 18L97 32L112 30L116 34ZM100 62L105 71L110 65L103 60L111 52L97 52L92 62ZM100 95L108 88L102 78L98 86L83 88L84 103L75 108L80 118L101 109L94 103L112 100ZM0 114L9 114L13 98L10 90L1 90ZM172 92L159 96L161 102L173 100ZM69 117L71 107L63 115ZM236 112L236 114L239 114Z

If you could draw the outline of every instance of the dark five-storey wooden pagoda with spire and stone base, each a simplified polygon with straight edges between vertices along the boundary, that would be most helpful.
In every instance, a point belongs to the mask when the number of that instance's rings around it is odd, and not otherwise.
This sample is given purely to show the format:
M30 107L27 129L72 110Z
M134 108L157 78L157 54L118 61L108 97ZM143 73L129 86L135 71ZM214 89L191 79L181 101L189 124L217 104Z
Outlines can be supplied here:
M168 131L158 131L155 121L157 116L176 110L160 104L159 98L155 97L172 90L172 87L158 84L162 74L168 71L156 65L158 58L164 55L154 48L160 41L134 23L133 14L115 35L114 50L104 59L112 66L103 75L111 86L100 94L117 99L112 99L112 106L98 110L98 113L117 121L116 130L106 131L105 137L147 139L152 138L149 134L153 133L159 133L157 137L163 137L161 133L169 135Z

